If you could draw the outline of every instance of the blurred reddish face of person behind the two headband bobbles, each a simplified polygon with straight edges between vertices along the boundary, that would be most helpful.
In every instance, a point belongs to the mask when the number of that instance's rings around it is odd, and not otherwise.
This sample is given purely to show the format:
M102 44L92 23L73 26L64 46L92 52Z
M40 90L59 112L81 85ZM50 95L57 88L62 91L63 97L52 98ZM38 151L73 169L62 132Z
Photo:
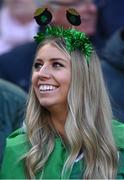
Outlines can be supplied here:
M51 0L49 4L53 10L54 24L71 27L72 25L66 19L66 10L74 8L81 16L81 24L75 28L85 32L90 37L96 33L97 7L93 0ZM60 18L60 14L63 15L62 18Z

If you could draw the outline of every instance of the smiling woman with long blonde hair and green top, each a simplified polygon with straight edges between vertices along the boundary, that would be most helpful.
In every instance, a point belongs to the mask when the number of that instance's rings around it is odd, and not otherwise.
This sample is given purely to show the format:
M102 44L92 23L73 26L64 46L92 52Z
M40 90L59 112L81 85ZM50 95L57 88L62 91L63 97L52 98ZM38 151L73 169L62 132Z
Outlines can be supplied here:
M71 37L70 30L69 39L77 32ZM87 56L84 34L83 50L56 34L45 36L37 49L26 128L8 139L1 178L123 178L123 151L114 143L97 56ZM73 46L78 48L69 52Z

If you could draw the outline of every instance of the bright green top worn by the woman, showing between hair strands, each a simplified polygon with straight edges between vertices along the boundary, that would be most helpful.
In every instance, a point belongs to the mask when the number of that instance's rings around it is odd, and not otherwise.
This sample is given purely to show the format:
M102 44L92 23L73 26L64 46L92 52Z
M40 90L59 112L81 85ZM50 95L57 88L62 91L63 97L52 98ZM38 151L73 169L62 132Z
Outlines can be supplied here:
M113 133L119 149L119 166L117 179L124 179L124 124L113 121ZM20 158L29 150L26 134L20 129L15 131L7 140L4 161L0 172L0 179L27 179L24 161ZM67 151L61 138L55 139L55 148L51 153L42 172L38 172L37 179L61 179L63 164L67 159ZM64 179L80 179L84 166L83 160L76 161L71 172L65 174Z

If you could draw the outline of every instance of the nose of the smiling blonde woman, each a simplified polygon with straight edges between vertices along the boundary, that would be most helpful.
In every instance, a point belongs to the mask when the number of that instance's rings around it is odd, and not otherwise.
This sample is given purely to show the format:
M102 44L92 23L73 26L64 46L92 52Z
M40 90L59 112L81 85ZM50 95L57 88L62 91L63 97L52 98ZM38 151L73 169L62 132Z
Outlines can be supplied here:
M48 66L43 65L38 72L40 78L50 78L50 69Z

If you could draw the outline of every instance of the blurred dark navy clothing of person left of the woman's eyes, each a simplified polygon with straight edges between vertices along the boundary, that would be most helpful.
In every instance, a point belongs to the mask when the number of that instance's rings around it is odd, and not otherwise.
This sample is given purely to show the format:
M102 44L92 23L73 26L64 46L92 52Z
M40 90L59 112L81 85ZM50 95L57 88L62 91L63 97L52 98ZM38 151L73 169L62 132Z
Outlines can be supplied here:
M31 67L37 45L27 43L0 56L0 77L28 92Z

